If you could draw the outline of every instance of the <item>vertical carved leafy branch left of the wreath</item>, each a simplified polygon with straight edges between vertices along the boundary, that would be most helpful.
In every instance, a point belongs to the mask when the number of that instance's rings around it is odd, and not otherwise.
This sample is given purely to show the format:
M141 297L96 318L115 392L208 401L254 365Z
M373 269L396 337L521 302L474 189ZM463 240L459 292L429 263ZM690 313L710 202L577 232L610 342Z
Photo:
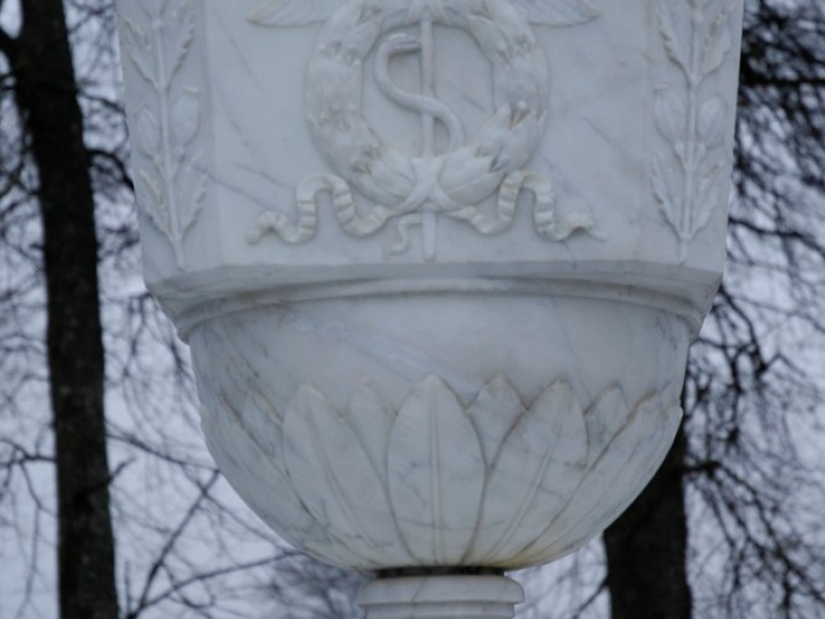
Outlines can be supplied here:
M171 242L175 262L185 266L183 240L204 207L208 177L203 152L193 152L200 127L198 90L175 84L195 37L192 0L137 2L149 22L124 20L128 58L149 83L156 100L137 113L136 147L151 163L137 172L145 213ZM169 32L171 31L171 32Z

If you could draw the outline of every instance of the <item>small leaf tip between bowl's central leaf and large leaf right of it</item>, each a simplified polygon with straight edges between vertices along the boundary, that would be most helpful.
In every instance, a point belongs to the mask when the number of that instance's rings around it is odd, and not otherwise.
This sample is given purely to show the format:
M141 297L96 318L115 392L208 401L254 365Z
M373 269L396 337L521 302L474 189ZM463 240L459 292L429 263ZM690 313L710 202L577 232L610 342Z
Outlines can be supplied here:
M488 468L493 466L505 438L524 414L518 393L503 376L497 376L484 385L470 406L469 415L479 433Z

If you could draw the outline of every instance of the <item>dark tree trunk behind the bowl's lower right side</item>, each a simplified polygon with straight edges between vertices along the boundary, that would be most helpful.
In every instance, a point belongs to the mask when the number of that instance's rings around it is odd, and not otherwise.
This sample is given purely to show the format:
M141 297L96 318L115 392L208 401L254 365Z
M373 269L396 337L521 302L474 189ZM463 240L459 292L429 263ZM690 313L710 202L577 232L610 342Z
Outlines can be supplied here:
M680 429L664 465L605 531L611 619L690 619Z

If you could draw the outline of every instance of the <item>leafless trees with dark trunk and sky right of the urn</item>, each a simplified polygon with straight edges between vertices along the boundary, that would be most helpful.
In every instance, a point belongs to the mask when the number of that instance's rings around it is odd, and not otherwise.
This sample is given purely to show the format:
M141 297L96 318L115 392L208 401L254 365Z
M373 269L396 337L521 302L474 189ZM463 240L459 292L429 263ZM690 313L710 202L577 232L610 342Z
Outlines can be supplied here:
M614 619L825 617L825 5L746 7L727 273L683 437L605 536Z

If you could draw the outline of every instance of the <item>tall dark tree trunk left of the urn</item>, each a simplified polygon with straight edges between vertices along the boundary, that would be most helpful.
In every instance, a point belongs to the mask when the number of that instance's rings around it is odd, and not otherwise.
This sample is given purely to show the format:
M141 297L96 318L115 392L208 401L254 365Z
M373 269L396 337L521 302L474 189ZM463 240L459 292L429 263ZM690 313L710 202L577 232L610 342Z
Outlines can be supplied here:
M3 35L37 168L48 295L48 364L58 494L62 619L116 619L103 414L104 360L89 152L62 0L23 0Z

